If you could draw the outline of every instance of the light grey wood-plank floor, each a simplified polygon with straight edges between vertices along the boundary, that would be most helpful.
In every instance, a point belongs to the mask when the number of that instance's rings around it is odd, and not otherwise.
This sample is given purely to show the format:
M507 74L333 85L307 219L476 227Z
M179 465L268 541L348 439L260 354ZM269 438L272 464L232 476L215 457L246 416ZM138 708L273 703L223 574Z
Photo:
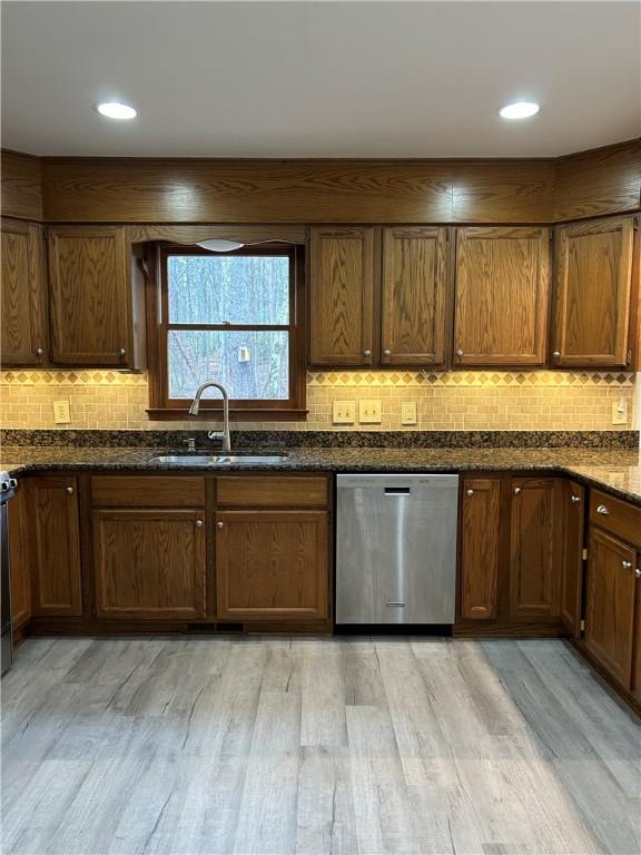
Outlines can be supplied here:
M639 853L641 729L562 641L33 639L2 853Z

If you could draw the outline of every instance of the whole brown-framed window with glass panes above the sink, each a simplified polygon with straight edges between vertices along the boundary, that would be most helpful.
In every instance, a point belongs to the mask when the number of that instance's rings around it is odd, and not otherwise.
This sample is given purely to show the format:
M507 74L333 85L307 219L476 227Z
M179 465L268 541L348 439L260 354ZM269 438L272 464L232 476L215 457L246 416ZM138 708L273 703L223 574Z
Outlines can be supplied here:
M176 415L216 380L236 419L305 417L300 250L164 246L159 268L151 410ZM217 391L207 390L201 410L219 407Z

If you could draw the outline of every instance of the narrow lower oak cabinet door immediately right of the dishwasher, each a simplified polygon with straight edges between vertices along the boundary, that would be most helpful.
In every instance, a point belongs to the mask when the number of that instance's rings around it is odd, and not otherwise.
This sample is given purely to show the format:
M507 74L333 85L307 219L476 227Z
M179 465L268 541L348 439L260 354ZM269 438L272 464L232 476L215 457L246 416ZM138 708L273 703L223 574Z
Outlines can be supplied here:
M461 618L497 617L501 481L463 482L461 523Z

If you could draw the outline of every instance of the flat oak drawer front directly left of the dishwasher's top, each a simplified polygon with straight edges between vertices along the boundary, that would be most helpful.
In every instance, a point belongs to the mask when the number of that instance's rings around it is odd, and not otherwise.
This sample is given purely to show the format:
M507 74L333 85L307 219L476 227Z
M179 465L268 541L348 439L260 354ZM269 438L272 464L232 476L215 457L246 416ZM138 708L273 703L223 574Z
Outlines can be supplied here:
M325 476L249 475L216 479L216 503L227 508L326 508Z

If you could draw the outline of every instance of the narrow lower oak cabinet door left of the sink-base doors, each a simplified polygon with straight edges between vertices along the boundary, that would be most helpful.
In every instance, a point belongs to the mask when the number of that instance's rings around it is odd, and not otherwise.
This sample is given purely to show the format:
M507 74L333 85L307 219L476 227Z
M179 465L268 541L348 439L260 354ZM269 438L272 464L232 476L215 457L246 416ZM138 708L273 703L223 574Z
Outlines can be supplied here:
M81 615L77 481L48 475L27 488L33 531L33 615Z

